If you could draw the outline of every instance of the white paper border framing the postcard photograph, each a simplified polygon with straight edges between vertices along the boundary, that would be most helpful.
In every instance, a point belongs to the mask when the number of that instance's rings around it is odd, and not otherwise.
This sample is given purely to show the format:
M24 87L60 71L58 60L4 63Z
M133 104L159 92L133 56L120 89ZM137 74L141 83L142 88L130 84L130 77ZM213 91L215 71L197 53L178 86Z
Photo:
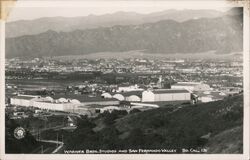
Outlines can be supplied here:
M147 1L17 1L15 7L87 7L87 6L121 6L123 4L131 5L140 5L140 6L162 6L166 5L167 7L183 7L199 9L201 7L244 7L244 20L243 20L243 81L244 81L244 122L243 122L243 154L5 154L5 21L0 20L0 159L3 160L15 160L15 159L122 159L122 160L131 160L131 159L159 159L159 160L248 160L249 159L249 68L250 68L250 59L249 59L249 8L243 6L241 3L233 3L227 0L221 1L175 1L175 0L147 0ZM166 7L166 8L167 8ZM14 9L14 8L13 8Z

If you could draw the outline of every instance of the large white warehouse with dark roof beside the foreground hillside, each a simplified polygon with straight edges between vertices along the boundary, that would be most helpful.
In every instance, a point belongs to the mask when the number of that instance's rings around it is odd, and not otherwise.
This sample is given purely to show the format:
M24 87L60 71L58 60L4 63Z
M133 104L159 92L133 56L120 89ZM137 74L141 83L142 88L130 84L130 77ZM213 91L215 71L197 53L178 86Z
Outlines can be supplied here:
M142 102L190 100L191 93L185 89L157 89L142 92Z

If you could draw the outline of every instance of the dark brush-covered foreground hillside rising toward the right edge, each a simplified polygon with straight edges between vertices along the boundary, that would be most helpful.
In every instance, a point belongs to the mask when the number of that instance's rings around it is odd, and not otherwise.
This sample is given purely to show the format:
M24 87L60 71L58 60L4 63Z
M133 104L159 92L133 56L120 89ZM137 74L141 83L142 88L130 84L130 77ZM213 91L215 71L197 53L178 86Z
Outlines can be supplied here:
M182 148L205 148L207 153L242 153L242 124L242 95L175 111L171 108L131 114L117 111L80 120L78 128L66 138L66 148L168 148L177 152Z

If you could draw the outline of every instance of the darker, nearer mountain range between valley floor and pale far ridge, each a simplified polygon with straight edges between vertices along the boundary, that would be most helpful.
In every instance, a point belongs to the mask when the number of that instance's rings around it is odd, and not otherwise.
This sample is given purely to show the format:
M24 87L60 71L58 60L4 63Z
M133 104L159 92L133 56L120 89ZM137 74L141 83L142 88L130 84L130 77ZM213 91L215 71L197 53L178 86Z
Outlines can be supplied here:
M47 32L6 39L6 57L87 55L143 50L148 53L242 51L242 17L163 20L141 25L102 27L72 32Z

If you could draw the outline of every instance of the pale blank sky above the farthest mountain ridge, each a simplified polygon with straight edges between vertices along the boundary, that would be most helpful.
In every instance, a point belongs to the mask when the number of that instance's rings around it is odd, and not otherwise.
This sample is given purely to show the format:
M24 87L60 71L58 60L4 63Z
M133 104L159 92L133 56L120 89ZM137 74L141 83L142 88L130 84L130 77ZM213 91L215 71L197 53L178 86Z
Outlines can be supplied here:
M8 21L32 20L41 17L78 17L88 15L102 15L118 11L137 12L142 14L159 12L168 9L214 9L219 11L228 10L225 5L199 5L198 3L178 5L179 3L166 3L162 1L71 1L71 3L57 2L30 2L18 1L12 8ZM173 1L172 1L173 2ZM39 6L39 7L38 7ZM217 6L217 7L215 7Z

